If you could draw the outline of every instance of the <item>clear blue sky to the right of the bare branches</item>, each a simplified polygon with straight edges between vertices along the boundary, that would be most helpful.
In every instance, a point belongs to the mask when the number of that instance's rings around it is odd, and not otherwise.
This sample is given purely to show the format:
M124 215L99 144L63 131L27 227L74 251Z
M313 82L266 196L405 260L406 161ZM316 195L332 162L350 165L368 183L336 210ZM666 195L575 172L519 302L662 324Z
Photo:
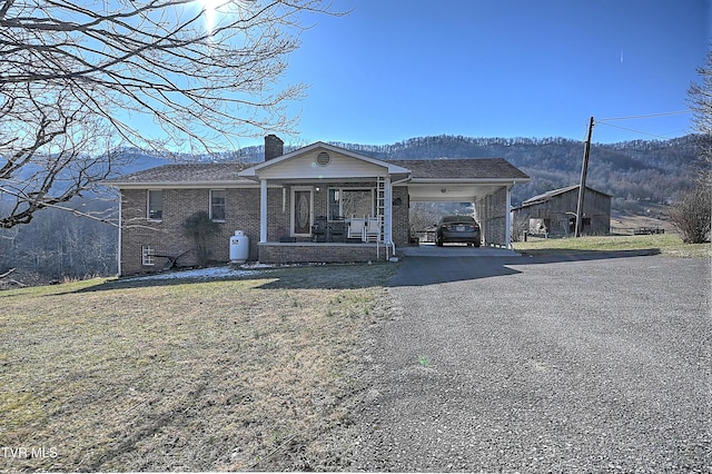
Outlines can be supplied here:
M712 0L335 0L287 81L299 135L390 144L431 135L565 137L589 119L685 110L712 38ZM594 142L673 138L691 115L600 122ZM616 127L630 128L635 131ZM255 145L245 140L240 145Z

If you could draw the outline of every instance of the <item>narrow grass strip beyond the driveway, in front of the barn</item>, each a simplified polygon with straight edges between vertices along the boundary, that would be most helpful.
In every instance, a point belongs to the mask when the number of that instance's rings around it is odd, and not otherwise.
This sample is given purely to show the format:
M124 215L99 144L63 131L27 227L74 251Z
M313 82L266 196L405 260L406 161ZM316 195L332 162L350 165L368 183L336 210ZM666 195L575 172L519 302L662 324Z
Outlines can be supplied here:
M712 257L712 245L683 244L676 234L644 236L604 236L580 238L538 238L514 243L517 251L527 254L551 254L562 251L615 251L615 250L659 250L675 257Z

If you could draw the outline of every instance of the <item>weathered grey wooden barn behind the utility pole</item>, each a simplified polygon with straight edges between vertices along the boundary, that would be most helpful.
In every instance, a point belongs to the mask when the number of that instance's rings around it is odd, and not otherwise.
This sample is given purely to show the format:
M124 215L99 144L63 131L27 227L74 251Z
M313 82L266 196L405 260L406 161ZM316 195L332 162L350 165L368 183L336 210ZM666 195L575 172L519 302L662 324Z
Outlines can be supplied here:
M533 235L552 237L573 236L580 186L554 189L526 199L512 209L513 223L523 224ZM596 236L611 233L611 195L586 186L583 199L582 235Z

